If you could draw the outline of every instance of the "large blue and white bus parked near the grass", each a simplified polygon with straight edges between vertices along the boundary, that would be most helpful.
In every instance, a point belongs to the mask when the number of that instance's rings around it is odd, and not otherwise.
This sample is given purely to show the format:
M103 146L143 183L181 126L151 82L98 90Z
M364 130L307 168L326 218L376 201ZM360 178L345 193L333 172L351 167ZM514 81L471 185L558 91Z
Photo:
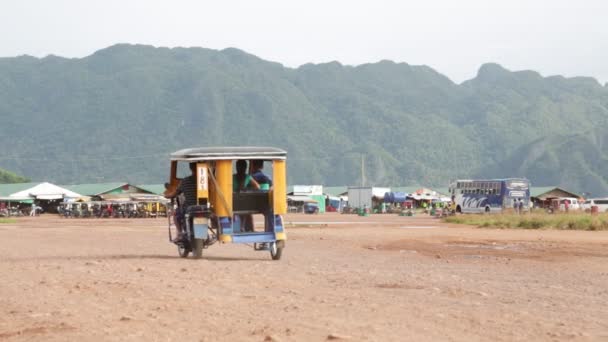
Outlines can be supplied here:
M525 178L456 180L449 189L457 213L499 213L523 202L530 204L530 181Z

